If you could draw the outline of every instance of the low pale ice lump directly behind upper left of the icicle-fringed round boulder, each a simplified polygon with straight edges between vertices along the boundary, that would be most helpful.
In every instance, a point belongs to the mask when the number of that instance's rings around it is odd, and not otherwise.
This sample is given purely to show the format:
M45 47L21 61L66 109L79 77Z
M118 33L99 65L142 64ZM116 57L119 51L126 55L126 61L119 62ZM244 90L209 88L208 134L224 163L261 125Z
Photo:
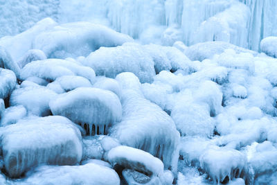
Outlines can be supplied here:
M78 87L92 87L91 82L82 76L61 76L46 86L48 89L61 94Z

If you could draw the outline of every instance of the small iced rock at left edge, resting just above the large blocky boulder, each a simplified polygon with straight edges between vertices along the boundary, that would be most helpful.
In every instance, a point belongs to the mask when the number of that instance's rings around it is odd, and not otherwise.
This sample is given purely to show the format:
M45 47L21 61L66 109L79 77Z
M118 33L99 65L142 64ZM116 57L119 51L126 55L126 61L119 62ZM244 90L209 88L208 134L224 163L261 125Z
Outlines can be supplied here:
M23 105L18 105L15 107L8 107L8 109L3 112L3 116L0 114L0 125L6 126L10 124L17 123L21 118L27 115L27 110Z

